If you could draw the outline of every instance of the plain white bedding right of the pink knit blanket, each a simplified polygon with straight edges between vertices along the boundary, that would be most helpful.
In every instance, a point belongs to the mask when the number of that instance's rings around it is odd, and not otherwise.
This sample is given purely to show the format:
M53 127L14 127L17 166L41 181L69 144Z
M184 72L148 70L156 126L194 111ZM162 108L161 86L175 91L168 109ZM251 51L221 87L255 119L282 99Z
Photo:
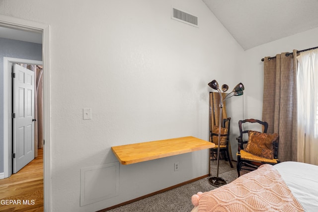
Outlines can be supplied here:
M307 212L318 212L318 166L301 162L281 162L274 166ZM197 212L194 207L191 212Z

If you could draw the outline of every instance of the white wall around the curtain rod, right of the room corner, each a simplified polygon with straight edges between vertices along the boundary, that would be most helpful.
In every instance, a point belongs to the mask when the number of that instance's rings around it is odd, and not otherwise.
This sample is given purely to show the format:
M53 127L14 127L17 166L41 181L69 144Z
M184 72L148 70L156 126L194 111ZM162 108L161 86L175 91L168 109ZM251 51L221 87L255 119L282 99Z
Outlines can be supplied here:
M298 33L268 44L245 51L242 79L244 91L244 118L262 118L263 104L263 62L264 57L273 57L283 52L293 52L293 49L303 50L318 46L318 28Z

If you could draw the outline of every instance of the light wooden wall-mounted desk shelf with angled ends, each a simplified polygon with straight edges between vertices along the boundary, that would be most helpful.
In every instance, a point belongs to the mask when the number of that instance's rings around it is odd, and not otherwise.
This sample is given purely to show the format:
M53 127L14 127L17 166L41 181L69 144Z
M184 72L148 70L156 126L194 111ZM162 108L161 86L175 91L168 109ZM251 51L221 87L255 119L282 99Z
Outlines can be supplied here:
M189 136L112 146L111 149L121 164L128 165L191 151L213 148L214 146L215 144L213 142Z

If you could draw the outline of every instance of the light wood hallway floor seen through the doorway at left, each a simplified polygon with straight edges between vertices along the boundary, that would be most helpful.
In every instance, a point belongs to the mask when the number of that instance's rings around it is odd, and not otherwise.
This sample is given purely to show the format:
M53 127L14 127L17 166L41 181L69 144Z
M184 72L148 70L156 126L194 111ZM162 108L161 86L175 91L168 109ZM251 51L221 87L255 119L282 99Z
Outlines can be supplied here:
M6 205L4 202L16 201ZM19 204L20 201L20 204ZM23 204L24 201L24 204ZM28 202L27 202L28 201ZM43 212L43 148L16 174L0 180L0 212Z

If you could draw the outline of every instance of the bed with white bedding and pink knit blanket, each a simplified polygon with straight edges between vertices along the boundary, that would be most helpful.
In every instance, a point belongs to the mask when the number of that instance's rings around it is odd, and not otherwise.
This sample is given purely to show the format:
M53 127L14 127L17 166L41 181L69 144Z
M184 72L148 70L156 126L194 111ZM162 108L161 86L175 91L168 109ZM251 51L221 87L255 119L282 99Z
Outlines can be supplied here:
M318 166L264 164L197 199L191 212L318 212Z

